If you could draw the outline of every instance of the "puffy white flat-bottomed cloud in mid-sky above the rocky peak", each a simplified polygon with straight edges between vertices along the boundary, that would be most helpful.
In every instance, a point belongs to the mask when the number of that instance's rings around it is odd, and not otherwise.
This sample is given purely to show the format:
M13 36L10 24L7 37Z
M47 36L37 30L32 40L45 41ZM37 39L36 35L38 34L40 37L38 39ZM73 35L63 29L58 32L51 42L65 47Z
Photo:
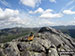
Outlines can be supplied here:
M40 18L59 18L62 17L62 14L59 13L52 13L54 12L52 9L42 9L42 8L38 8L35 11L29 11L30 14L37 14L40 13Z

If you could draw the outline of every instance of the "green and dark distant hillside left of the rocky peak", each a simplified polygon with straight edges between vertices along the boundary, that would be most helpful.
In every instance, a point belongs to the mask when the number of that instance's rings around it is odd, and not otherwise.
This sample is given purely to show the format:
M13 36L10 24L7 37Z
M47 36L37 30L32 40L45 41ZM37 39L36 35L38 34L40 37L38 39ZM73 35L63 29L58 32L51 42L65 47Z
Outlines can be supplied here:
M30 32L35 32L37 28L6 28L0 30L0 43L11 41L12 39L28 35Z

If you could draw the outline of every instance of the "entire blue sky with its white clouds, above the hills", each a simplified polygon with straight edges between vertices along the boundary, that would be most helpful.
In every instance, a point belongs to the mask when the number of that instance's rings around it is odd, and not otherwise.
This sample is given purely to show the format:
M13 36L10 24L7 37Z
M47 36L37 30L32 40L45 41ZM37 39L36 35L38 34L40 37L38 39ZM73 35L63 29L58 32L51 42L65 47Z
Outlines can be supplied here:
M0 28L75 25L75 0L0 0Z

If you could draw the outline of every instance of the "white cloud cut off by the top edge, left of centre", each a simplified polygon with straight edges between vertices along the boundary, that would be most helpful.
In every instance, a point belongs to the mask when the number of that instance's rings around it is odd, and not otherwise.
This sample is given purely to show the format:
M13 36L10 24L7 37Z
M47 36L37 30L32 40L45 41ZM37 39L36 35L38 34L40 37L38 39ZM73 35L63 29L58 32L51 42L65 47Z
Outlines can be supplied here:
M26 6L35 7L41 3L41 0L20 0L20 2Z

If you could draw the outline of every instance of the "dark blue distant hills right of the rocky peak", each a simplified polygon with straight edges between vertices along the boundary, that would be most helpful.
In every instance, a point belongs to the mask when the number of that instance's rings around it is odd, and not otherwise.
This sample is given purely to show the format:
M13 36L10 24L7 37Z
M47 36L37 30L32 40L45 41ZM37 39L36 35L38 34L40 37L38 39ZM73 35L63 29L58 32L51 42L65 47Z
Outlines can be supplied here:
M71 37L75 38L75 26L69 25L69 26L51 26L57 30L61 30L65 34L69 34Z

